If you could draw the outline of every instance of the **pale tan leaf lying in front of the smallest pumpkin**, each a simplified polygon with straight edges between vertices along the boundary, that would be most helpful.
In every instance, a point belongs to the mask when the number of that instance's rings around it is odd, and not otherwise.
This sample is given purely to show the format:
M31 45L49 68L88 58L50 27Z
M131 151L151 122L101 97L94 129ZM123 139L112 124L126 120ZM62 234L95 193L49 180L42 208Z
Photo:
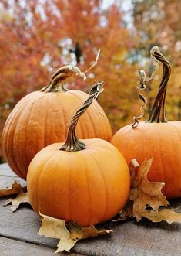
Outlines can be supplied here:
M79 239L96 237L102 234L109 234L112 230L97 230L95 227L81 227L78 224L65 224L65 220L55 219L39 213L42 216L42 226L38 234L45 237L58 238L57 250L69 251Z

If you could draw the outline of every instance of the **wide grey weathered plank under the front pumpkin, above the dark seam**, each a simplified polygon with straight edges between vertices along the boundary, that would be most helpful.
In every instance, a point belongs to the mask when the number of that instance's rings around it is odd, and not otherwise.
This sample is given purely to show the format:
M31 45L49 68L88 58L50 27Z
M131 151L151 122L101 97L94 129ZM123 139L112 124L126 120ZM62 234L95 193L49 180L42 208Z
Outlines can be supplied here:
M0 235L12 237L19 241L28 241L41 246L55 247L57 241L48 237L37 236L40 227L39 217L29 208L20 208L12 213L9 207L2 207L5 199L0 200ZM173 200L173 206L181 200ZM121 224L104 224L114 233L105 236L79 241L74 252L94 256L116 255L181 255L181 224L153 224L142 220L124 221Z

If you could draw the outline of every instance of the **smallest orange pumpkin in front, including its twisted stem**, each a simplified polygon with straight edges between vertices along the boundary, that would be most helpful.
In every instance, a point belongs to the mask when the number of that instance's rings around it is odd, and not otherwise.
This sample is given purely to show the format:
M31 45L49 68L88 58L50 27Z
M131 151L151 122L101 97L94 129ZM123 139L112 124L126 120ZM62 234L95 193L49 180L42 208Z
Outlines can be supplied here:
M105 140L79 141L75 135L79 117L101 91L97 84L72 118L64 144L49 145L32 159L28 195L37 213L88 226L109 220L126 204L129 169L119 150Z

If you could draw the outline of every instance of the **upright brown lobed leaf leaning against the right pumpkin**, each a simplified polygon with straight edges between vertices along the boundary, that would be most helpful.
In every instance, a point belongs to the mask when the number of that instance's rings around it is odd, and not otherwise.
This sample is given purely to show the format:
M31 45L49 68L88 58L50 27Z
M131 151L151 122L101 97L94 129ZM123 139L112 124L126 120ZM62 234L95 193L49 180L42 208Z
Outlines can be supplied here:
M135 170L139 164L136 159L133 159L129 165L131 175L129 200L133 201L133 217L136 217L137 221L142 219L142 213L146 210L146 207L150 206L157 212L160 206L169 204L166 196L163 196L161 191L165 183L150 182L147 179L152 162L153 159L142 162L137 176L135 175Z

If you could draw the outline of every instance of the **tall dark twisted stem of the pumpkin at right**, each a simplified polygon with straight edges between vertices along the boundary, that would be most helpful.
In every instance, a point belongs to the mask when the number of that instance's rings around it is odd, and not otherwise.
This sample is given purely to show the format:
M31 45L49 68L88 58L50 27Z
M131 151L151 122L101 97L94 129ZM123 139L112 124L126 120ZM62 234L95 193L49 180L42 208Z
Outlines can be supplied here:
M153 104L153 108L149 114L149 119L147 120L147 122L165 123L167 122L165 116L166 88L171 74L171 65L169 61L166 60L166 57L163 56L162 53L160 53L158 46L154 46L151 49L150 54L153 57L153 59L159 60L161 63L163 63L163 78L159 85L159 92L156 96L156 100Z

